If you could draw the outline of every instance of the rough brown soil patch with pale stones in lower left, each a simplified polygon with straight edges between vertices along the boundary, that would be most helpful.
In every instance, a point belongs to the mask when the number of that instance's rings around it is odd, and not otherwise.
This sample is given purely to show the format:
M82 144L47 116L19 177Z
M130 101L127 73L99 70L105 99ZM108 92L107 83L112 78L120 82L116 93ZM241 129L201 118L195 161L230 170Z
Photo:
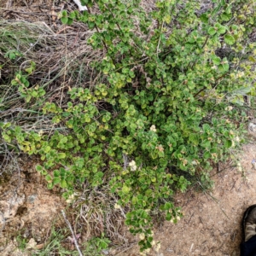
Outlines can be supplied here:
M0 176L0 252L24 255L15 238L33 239L34 248L44 246L52 226L61 224L66 202L56 190L47 189L36 170L36 159L23 156L4 166ZM4 171L4 172L3 172Z

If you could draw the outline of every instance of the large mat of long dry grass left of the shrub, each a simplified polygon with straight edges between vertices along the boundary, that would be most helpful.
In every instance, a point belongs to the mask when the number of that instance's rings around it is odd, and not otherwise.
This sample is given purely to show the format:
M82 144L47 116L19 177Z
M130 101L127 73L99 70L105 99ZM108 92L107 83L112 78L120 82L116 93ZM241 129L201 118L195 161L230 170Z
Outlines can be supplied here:
M59 32L53 32L44 22L1 20L0 26L0 119L20 125L22 117L26 117L27 125L27 116L38 114L38 102L27 106L17 88L9 85L15 72L24 71L31 61L36 63L36 71L29 76L29 82L44 87L49 102L61 105L68 88L91 84L90 61L102 56L86 44L92 32L87 32L83 24L61 26ZM5 55L14 49L20 55L9 60Z

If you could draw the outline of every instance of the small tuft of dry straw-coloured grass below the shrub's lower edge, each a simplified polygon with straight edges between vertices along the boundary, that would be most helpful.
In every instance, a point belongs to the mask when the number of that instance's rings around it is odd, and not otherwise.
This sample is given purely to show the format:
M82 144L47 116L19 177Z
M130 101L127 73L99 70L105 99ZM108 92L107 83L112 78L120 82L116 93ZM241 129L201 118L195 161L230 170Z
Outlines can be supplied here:
M72 203L75 226L83 230L87 239L104 233L114 246L127 245L125 210L115 208L116 202L108 187L92 190L84 185L84 190L75 196Z

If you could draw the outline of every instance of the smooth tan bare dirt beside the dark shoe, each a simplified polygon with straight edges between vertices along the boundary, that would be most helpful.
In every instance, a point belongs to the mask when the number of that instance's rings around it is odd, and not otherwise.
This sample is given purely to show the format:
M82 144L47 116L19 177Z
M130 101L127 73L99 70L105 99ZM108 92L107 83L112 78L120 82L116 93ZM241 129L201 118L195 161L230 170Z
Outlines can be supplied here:
M161 243L160 252L147 255L240 255L242 214L256 203L256 171L251 164L255 152L255 143L243 148L241 167L246 177L237 167L220 166L219 172L212 172L212 191L189 189L177 195L175 201L183 208L184 217L177 224L166 222L154 231L154 240ZM138 248L122 255L136 256Z

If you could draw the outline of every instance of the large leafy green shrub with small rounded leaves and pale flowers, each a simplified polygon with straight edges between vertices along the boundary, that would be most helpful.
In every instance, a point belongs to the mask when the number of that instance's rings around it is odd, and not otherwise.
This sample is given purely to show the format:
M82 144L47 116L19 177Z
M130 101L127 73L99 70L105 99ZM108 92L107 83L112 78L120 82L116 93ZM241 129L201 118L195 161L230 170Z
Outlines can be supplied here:
M94 31L88 44L104 53L92 63L96 84L71 88L65 108L45 102L43 114L66 133L0 125L7 143L41 155L49 189L60 185L68 198L85 181L108 185L131 209L125 223L144 235L142 250L153 240L152 212L177 222L175 190L185 191L189 176L208 181L211 164L241 145L244 96L255 96L253 0L214 1L201 15L198 1L179 2L157 1L146 13L139 1L84 0L98 11L63 11L62 22L84 22ZM44 96L21 73L13 84L27 102Z

